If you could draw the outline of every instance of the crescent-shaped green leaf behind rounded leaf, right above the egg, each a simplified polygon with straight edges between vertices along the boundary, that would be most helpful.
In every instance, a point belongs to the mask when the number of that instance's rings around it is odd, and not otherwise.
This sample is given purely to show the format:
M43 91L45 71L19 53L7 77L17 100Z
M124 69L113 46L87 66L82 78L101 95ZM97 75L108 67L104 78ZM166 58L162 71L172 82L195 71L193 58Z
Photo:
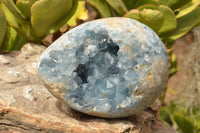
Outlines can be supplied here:
M164 21L158 33L169 32L177 27L177 21L174 12L168 6L159 6L159 10L163 13Z

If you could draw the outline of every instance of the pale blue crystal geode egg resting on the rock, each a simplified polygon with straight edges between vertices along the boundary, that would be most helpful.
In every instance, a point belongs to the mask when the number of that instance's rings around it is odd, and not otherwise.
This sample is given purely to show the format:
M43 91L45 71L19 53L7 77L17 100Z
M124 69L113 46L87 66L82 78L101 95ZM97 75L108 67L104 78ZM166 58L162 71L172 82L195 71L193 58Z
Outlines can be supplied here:
M158 98L168 79L168 58L146 25L106 18L62 35L41 55L37 70L48 90L70 108L119 118Z

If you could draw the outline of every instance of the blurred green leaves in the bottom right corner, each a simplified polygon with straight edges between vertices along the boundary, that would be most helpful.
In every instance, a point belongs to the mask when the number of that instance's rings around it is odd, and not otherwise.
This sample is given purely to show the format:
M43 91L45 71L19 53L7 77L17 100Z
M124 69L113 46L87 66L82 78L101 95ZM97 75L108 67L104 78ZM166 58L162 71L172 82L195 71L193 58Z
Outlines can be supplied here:
M161 107L160 117L165 124L181 133L200 133L200 106L187 108L183 99Z

